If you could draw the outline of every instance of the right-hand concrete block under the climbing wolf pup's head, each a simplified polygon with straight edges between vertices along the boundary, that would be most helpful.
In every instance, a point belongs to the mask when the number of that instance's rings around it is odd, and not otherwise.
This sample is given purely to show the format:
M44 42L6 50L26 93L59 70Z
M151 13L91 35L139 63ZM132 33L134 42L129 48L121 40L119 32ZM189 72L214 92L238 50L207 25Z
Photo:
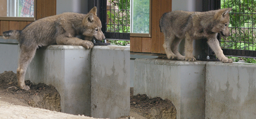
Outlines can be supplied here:
M91 69L91 115L130 115L130 47L94 46Z

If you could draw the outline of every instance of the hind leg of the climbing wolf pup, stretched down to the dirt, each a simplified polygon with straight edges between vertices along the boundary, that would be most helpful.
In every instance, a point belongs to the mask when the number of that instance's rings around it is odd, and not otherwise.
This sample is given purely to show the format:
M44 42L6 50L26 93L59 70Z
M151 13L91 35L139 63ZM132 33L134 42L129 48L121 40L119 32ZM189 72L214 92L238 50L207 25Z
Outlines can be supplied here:
M29 86L25 84L25 74L27 66L36 54L37 46L21 46L21 54L19 54L19 64L17 69L18 87L22 90L29 90Z

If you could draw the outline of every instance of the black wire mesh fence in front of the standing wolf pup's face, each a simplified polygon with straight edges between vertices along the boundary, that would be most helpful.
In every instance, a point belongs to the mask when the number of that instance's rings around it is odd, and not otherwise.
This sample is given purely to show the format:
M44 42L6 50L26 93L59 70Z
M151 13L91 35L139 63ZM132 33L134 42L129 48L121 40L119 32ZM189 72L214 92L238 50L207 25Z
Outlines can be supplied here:
M220 38L225 55L256 58L256 1L221 0L221 8L230 12L230 37Z

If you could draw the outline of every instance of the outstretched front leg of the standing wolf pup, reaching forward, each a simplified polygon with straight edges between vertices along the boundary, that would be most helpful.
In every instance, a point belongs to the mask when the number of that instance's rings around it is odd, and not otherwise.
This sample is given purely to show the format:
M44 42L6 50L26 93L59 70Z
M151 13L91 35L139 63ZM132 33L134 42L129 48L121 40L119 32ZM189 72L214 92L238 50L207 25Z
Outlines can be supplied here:
M218 39L208 39L207 43L210 46L210 48L213 49L214 53L216 54L220 61L222 61L223 63L233 63L232 59L226 58L226 56L223 54L223 50L221 50L220 48Z

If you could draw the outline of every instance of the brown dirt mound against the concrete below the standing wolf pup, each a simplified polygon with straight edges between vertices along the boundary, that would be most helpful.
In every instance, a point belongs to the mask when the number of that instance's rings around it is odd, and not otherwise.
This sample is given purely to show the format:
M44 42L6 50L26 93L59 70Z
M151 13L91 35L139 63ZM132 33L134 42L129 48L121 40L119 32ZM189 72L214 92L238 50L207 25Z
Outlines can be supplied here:
M131 91L132 92L132 91ZM173 103L160 97L150 99L147 95L131 96L131 111L146 118L176 118L176 108Z

